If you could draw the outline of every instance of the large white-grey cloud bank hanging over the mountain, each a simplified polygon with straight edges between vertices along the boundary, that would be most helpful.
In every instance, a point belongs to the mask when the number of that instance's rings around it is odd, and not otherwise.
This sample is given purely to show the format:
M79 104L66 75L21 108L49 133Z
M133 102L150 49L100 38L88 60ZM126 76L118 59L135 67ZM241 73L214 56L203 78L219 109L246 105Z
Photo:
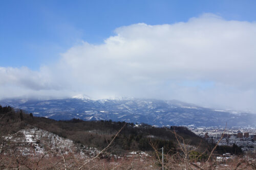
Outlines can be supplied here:
M213 14L172 25L120 27L83 42L39 71L0 67L0 96L78 93L93 98L177 99L256 111L256 23Z

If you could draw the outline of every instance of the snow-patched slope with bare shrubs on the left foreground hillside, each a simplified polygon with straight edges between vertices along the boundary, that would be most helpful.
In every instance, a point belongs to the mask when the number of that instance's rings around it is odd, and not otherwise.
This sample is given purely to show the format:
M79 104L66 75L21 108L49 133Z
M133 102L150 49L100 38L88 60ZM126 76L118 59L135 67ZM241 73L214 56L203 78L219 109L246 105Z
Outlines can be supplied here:
M12 136L8 136L8 138L19 143L18 150L23 155L41 155L46 153L62 155L71 152L80 157L89 158L99 153L96 148L75 144L70 139L38 128L23 129Z

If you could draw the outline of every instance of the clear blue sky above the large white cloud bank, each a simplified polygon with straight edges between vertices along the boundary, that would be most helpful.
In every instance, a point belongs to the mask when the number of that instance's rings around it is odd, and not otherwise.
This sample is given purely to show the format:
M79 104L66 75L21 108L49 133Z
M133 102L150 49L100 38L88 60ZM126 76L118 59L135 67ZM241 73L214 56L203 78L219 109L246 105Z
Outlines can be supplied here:
M255 1L1 1L0 66L38 70L81 40L102 43L121 26L162 25L203 13L253 21Z

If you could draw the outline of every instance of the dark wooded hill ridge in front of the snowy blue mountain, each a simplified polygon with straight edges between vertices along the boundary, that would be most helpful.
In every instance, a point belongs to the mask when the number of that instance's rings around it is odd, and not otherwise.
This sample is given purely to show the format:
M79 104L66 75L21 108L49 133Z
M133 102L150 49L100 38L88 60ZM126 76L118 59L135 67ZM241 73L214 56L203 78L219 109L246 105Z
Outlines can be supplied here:
M117 131L124 126L110 149L110 152L115 154L136 150L153 151L152 144L158 149L164 147L165 153L175 153L179 148L177 139L181 140L181 138L184 143L197 147L199 152L212 149L210 144L185 127L157 128L146 124L135 126L133 123L112 122L112 120L56 121L45 117L35 117L32 113L14 110L9 106L0 106L0 126L2 133L5 129L8 133L15 133L20 129L33 126L98 149L105 148Z

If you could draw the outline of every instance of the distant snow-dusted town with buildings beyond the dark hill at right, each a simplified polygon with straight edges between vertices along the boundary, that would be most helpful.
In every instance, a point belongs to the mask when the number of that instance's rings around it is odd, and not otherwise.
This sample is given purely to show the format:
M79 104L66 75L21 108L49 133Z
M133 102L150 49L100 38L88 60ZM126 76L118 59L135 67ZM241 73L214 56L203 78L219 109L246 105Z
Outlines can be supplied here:
M256 128L188 127L188 129L209 143L219 142L218 145L230 147L236 144L243 152L256 153Z

